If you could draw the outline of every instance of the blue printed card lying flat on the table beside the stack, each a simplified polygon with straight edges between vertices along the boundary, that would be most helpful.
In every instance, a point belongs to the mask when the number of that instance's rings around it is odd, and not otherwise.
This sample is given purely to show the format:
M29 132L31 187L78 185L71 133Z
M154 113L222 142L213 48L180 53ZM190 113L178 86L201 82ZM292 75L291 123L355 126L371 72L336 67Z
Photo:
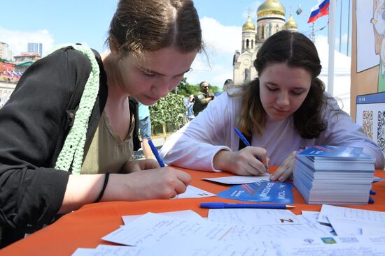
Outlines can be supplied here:
M293 204L293 184L279 181L257 181L231 186L218 197L251 202Z

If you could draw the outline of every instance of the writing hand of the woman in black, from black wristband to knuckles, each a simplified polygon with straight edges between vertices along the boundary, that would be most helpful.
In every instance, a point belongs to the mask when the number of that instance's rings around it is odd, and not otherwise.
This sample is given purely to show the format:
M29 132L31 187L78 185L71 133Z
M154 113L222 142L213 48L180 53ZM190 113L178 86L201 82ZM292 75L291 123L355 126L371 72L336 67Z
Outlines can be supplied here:
M169 199L184 193L190 182L190 174L172 167L111 174L103 201Z

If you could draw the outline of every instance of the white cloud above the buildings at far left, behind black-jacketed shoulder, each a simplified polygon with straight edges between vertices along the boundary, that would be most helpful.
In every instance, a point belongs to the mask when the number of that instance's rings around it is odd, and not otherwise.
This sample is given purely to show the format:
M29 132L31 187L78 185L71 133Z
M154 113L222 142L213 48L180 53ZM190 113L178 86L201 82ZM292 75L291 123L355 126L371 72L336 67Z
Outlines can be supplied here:
M42 43L43 54L53 47L54 39L48 30L11 31L0 27L0 42L7 43L13 55L27 52L28 43Z

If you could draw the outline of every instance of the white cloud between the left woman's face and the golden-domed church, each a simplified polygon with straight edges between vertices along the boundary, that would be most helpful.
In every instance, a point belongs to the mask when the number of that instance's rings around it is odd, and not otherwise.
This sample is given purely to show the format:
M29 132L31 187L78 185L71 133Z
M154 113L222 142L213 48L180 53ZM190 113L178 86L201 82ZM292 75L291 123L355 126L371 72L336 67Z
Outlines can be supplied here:
M241 50L241 27L224 26L211 17L200 21L207 56L198 55L192 65L193 72L186 75L187 82L199 84L205 80L221 87L232 78L232 57L235 50Z

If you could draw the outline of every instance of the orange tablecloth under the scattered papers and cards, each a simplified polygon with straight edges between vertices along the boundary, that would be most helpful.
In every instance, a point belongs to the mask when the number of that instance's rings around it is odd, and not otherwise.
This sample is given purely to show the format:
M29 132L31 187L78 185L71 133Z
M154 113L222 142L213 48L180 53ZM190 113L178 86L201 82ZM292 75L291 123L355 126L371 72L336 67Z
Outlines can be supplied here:
M225 172L199 172L186 170L193 176L191 185L211 193L219 193L229 186L203 181L202 178L229 176ZM377 170L375 176L385 178L385 172ZM372 196L374 204L352 206L352 208L385 211L385 181L373 183L372 189L377 195ZM320 211L321 205L306 204L300 193L293 189L295 209ZM143 214L148 211L158 213L192 209L203 217L207 217L208 209L201 209L201 202L235 202L235 200L219 197L188 198L172 200L148 200L141 202L102 202L87 204L78 211L66 214L52 225L31 234L10 246L0 250L0 255L71 255L76 248L94 248L99 244L110 244L102 241L102 236L113 232L123 224L121 216ZM239 201L237 201L239 202Z

